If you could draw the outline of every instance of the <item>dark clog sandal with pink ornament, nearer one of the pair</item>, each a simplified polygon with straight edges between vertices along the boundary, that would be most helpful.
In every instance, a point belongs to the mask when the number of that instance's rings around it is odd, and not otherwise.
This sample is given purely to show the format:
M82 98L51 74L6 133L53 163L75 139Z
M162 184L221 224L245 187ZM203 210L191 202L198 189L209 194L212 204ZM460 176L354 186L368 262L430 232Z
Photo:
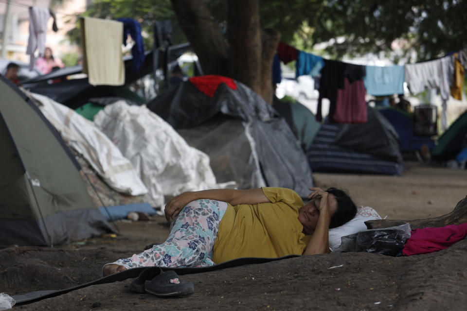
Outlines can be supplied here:
M160 297L174 297L193 294L195 287L193 283L180 280L174 271L167 271L150 281L145 281L144 290Z

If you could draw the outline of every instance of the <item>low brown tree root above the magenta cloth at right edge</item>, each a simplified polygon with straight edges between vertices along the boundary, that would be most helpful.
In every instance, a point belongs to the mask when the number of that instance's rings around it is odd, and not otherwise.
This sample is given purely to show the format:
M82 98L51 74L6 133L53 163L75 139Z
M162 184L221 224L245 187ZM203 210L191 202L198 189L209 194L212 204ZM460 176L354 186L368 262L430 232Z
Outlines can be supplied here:
M449 213L443 216L415 219L415 220L370 220L365 222L368 229L387 228L396 225L410 224L411 228L426 228L426 227L444 227L445 225L460 225L467 223L467 196L457 203L456 207Z

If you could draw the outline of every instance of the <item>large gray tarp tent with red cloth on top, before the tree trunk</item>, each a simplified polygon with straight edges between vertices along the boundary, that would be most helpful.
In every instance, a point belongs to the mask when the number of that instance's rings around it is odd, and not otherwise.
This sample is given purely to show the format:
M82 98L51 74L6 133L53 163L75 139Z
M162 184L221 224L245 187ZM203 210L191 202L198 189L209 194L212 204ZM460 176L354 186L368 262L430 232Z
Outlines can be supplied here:
M287 122L253 90L235 83L236 89L220 84L209 97L186 81L146 105L210 156L218 182L235 180L241 189L284 187L306 197L311 170Z

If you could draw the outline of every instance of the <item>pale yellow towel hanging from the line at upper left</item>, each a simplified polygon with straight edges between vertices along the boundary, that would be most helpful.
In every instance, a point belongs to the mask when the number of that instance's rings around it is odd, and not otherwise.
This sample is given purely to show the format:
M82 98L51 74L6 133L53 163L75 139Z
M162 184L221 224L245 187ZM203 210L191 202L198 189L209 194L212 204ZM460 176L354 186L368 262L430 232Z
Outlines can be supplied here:
M108 19L80 19L83 41L83 72L93 86L125 84L122 58L123 23Z

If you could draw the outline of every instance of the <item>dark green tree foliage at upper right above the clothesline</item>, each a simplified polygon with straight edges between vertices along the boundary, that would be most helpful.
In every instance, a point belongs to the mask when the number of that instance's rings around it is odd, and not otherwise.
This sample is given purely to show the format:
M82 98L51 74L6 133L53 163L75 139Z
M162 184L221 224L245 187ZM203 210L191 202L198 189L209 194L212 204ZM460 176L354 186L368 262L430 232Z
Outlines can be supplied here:
M219 0L217 0L219 1ZM259 0L261 24L281 32L282 41L312 52L335 38L325 52L341 58L390 52L395 39L403 50L395 63L429 60L466 47L466 0ZM389 55L389 54L388 54Z

